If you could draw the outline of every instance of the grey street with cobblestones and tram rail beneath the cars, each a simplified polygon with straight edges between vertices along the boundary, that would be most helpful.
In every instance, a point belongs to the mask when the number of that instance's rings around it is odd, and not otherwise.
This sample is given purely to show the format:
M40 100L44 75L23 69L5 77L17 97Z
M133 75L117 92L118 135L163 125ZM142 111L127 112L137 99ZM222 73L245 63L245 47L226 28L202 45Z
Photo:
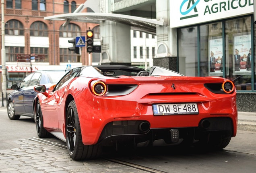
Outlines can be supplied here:
M66 149L28 140L37 137L33 119L10 120L3 109L0 119L0 172L3 173L39 170L41 173L152 173L140 167L157 173L256 173L256 132L253 131L237 131L229 145L217 152L165 147L120 152L105 149L97 160L73 161Z

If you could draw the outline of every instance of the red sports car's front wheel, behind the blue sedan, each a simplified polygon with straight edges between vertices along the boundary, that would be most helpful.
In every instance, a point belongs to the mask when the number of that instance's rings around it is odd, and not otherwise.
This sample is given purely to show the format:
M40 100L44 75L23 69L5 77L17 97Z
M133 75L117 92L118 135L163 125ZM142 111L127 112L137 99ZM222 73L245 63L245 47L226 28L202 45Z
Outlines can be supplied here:
M49 132L43 127L43 115L39 101L37 101L37 104L35 105L35 125L38 137L46 138L49 136Z

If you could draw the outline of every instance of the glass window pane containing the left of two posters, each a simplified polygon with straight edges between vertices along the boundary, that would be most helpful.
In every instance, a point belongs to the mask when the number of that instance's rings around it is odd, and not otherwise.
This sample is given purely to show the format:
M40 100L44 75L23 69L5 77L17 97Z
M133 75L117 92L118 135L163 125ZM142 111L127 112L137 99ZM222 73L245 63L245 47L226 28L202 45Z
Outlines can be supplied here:
M223 76L222 22L200 26L200 76Z

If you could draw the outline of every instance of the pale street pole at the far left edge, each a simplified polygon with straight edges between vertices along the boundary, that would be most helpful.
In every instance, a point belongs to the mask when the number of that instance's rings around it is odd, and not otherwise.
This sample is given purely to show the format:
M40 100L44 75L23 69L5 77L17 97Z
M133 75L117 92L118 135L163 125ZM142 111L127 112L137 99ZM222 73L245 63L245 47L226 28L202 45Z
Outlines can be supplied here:
M4 0L1 0L1 12L2 12L2 49L1 49L1 58L2 58L2 92L6 93L6 57L5 57L5 44L4 44Z

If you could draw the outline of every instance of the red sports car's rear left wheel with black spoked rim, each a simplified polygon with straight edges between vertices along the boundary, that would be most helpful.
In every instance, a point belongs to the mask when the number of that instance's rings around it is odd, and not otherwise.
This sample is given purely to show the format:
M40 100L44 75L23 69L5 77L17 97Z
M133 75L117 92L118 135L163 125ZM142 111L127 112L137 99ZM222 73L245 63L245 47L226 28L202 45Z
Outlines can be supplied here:
M70 157L74 160L95 159L101 154L98 145L83 145L80 121L76 103L71 101L66 111L66 144Z

